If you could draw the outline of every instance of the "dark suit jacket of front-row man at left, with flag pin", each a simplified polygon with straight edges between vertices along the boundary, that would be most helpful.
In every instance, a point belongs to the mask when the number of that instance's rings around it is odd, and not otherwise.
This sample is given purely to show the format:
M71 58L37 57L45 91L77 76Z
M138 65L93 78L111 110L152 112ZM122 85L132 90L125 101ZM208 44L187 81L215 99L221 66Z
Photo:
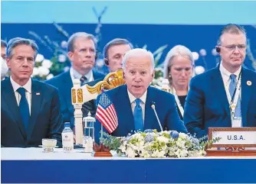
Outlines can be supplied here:
M60 101L57 89L32 79L31 118L28 132L21 121L21 114L10 79L1 82L1 144L3 147L38 147L42 138L53 138L61 146ZM40 94L40 95L38 95Z

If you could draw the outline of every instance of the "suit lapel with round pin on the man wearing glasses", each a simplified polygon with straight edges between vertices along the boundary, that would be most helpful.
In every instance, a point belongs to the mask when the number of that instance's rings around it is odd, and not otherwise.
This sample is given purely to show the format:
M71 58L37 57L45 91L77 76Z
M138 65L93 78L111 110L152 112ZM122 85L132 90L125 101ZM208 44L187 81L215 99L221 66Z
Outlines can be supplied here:
M241 68L241 118L243 126L248 126L247 124L247 111L249 99L251 98L251 86L247 85L248 81L251 81L249 73L246 72L244 67Z

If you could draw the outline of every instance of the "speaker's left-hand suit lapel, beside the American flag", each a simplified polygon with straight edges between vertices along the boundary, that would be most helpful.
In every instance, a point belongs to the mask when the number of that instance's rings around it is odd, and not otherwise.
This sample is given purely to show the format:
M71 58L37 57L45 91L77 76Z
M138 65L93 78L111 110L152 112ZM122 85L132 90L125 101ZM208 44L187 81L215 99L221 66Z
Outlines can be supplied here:
M120 90L117 92L118 94L123 95L117 95L117 102L114 102L114 105L116 106L117 116L118 116L118 123L122 124L120 127L123 127L126 129L126 132L134 131L134 119L133 119L133 111L130 105L130 98L128 96L127 92L127 86L120 86ZM127 107L125 111L123 111L123 108Z

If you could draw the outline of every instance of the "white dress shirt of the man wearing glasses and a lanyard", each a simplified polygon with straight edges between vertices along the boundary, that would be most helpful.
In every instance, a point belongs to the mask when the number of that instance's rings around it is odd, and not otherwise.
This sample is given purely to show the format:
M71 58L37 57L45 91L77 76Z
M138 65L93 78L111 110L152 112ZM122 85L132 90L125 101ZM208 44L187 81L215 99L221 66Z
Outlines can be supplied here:
M221 62L221 64L220 64L220 66L219 66L219 70L220 70L220 72L221 72L221 74L222 74L222 80L223 80L223 82L224 82L226 94L228 94L229 91L227 91L227 90L229 89L229 84L230 84L230 82L231 82L230 75L233 74L233 73L228 72L228 70L225 69L224 66L222 65L222 62ZM239 73L240 73L240 72L241 72L241 66L240 66L240 68L234 73L235 76L236 76L237 82L238 82L238 78L239 78ZM240 96L241 96L241 90L240 90Z

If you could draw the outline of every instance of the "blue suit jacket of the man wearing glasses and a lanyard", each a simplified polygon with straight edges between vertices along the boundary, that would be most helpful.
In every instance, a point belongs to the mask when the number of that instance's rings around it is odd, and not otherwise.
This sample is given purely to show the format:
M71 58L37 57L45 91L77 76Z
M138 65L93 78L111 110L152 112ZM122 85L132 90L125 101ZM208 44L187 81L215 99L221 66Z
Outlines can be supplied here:
M247 82L251 81L251 86ZM256 127L256 73L241 69L241 114L243 127ZM208 128L231 127L228 98L219 66L192 78L185 101L184 123L202 137Z

